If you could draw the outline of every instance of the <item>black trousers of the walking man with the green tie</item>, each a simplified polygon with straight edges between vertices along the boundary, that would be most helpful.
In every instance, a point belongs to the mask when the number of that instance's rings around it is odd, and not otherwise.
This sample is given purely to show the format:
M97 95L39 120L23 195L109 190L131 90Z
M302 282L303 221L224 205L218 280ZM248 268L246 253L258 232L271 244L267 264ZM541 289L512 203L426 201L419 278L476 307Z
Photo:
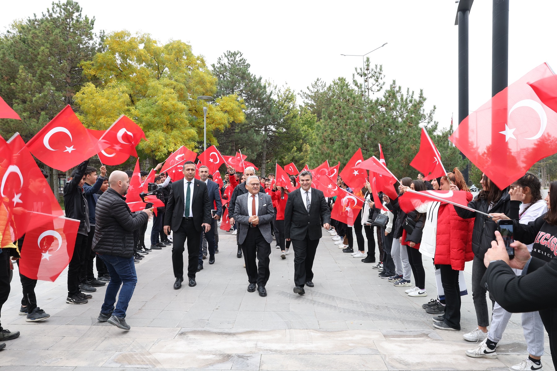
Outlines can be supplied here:
M199 241L201 232L193 224L193 219L183 218L182 224L174 232L172 245L172 268L175 278L184 278L184 244L188 246L188 278L196 278L197 259L199 258Z

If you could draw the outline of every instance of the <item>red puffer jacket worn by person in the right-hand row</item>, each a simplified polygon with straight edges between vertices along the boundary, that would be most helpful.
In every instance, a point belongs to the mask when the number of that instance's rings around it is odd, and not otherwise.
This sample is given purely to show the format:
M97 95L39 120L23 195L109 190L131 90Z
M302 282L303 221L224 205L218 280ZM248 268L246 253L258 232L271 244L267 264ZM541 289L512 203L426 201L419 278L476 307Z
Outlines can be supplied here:
M466 200L472 200L467 192ZM454 270L464 270L464 263L474 258L472 253L472 230L474 219L462 219L457 215L455 206L442 204L437 214L437 237L435 264L451 265Z

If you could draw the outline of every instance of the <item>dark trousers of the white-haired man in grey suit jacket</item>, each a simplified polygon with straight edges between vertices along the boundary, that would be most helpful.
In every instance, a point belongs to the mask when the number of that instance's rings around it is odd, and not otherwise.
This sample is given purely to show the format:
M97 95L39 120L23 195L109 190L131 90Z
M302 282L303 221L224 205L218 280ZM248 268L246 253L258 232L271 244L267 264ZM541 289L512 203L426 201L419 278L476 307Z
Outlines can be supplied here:
M265 287L271 275L269 270L271 244L265 240L259 227L248 227L246 239L241 246L248 281L251 284L257 283L257 286ZM258 263L255 262L256 257Z

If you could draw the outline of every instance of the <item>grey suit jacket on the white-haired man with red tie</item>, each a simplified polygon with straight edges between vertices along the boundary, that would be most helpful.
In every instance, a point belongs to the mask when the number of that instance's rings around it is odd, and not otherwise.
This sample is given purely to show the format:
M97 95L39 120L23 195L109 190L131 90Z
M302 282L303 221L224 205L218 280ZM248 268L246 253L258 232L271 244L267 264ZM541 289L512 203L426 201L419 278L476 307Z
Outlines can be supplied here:
M246 240L247 231L250 229L250 212L247 208L247 197L250 192L240 195L236 199L236 207L234 207L234 222L238 224L238 243L243 244ZM271 243L273 237L271 235L271 221L275 215L271 196L259 192L259 205L257 206L257 216L259 217L259 230L265 238L265 241Z

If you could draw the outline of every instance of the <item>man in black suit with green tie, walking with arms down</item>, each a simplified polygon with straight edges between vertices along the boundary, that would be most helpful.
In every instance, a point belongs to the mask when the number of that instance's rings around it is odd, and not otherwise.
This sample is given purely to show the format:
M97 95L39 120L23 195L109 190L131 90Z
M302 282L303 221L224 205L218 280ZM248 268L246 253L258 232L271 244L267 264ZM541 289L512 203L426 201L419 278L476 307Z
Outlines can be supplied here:
M174 232L172 247L172 268L174 268L174 289L182 287L184 280L184 243L188 240L189 286L196 285L197 259L201 232L211 230L211 204L207 185L194 179L196 164L184 162L184 179L170 187L167 209L164 214L164 233Z

